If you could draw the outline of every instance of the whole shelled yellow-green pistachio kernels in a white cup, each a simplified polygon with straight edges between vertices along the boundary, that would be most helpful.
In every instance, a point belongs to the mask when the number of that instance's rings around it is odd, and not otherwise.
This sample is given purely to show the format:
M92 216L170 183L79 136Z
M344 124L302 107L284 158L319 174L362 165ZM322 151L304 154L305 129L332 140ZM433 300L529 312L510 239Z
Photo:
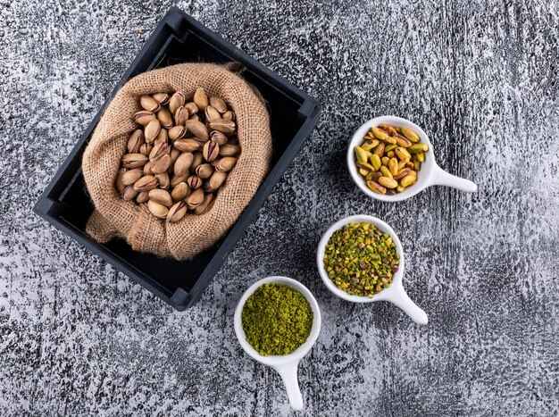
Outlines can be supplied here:
M367 187L378 194L395 195L415 183L428 150L412 129L383 123L367 132L361 146L355 146L355 163Z

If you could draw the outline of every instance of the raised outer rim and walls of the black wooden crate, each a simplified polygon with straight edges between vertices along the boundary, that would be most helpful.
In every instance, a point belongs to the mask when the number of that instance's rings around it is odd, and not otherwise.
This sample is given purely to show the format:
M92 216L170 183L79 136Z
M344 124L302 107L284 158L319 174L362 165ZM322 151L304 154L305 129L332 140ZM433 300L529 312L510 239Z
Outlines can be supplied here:
M57 216L57 213L63 211L63 204L59 200L62 198L65 189L71 180L81 172L81 155L88 144L88 138L91 136L97 122L104 113L104 108L110 103L121 86L128 79L137 75L135 73L136 69L143 60L146 60L147 52L160 40L159 38L162 36L165 26L169 26L175 31L177 36L181 36L180 32L184 30L185 21L188 24L188 29L196 30L201 36L213 42L213 45L220 46L222 49L221 52L227 53L232 61L244 63L247 71L253 71L254 74L269 82L271 86L280 89L283 94L290 94L292 97L298 99L301 103L298 113L300 117L305 118L305 121L300 129L298 129L296 136L291 139L291 144L281 155L280 160L271 167L271 171L264 179L263 184L254 195L250 204L246 207L245 212L229 230L227 237L224 239L217 252L213 254L211 262L207 264L202 274L196 280L195 285L192 286L188 292L183 288L177 288L174 294L169 296L166 294L164 288L154 282L153 279L149 279L142 271L139 271L133 265L123 261L106 247L98 244L82 230L72 227L67 221L63 221ZM288 168L289 163L291 163L295 155L299 152L305 140L311 135L313 128L318 122L320 112L321 104L317 100L313 99L299 88L296 88L286 79L283 79L280 75L269 70L263 66L262 63L258 63L248 54L244 53L236 46L231 45L229 41L221 38L221 36L204 27L200 22L173 6L168 13L165 14L163 20L159 22L152 35L146 40L146 44L138 52L132 63L130 63L129 68L124 72L115 88L113 88L113 91L107 97L99 112L96 113L93 121L89 123L88 128L79 138L79 141L73 147L71 153L66 157L59 170L54 174L54 178L51 179L45 191L39 196L38 202L33 207L33 211L52 224L56 229L63 231L63 233L76 240L81 246L87 247L91 252L100 256L105 262L111 263L117 270L138 282L138 284L152 292L155 296L171 304L173 308L183 311L195 304L202 296L204 289L207 288L215 274L220 270L221 264L236 245L238 239L242 237L246 228L254 221L255 216L280 180L283 172Z

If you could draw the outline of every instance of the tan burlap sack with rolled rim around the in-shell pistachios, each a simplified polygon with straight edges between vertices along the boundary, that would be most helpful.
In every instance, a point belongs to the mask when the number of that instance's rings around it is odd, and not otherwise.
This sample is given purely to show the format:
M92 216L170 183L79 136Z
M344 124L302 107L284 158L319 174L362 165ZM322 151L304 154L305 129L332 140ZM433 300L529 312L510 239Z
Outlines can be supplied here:
M126 238L134 250L184 260L212 246L237 221L268 170L271 133L262 98L229 68L234 66L183 63L149 71L130 79L114 96L82 161L89 196L96 207L86 229L92 238L102 243ZM139 96L181 91L189 98L199 87L209 96L221 96L235 112L241 154L210 211L167 223L149 213L146 204L123 200L114 181L129 135L138 129L133 114L140 110Z

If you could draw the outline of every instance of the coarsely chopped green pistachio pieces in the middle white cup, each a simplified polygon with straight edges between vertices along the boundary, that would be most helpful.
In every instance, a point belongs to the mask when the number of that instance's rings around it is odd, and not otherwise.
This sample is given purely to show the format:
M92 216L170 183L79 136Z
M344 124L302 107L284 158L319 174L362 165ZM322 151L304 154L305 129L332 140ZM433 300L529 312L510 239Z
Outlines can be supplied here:
M324 269L338 288L368 297L388 288L399 260L390 235L367 222L351 222L336 230L323 257Z

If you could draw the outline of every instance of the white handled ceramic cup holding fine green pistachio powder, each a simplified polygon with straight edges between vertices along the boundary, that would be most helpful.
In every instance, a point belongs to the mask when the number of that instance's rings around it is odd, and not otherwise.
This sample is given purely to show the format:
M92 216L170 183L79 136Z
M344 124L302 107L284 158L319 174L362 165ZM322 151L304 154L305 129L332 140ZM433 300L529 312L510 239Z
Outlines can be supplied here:
M246 333L243 329L243 323L241 321L241 313L243 312L246 298L251 296L256 288L269 282L285 284L291 288L295 288L303 294L303 296L305 296L313 309L313 328L311 329L311 334L306 339L305 343L297 347L291 354L263 356L262 354L256 352L254 347L246 341ZM299 361L301 361L305 354L307 354L309 350L311 350L311 347L313 347L320 331L321 310L319 309L318 303L314 299L313 294L311 294L311 291L309 291L303 284L288 277L268 277L254 282L254 284L245 291L245 294L241 296L240 300L238 300L237 308L235 309L235 334L237 335L238 343L240 343L245 352L253 359L263 363L264 365L271 366L273 369L278 371L288 391L289 404L291 404L291 407L294 410L303 410L304 408L303 396L301 396L299 381L297 380L297 366Z

